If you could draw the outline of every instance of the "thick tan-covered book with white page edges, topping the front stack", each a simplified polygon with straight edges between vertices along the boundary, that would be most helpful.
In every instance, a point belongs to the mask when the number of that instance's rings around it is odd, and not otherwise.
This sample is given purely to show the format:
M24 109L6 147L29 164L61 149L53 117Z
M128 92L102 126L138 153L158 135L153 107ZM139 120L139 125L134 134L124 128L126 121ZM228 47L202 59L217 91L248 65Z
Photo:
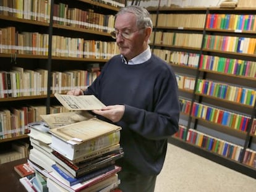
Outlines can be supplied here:
M96 118L49 130L51 148L69 160L118 144L121 127Z

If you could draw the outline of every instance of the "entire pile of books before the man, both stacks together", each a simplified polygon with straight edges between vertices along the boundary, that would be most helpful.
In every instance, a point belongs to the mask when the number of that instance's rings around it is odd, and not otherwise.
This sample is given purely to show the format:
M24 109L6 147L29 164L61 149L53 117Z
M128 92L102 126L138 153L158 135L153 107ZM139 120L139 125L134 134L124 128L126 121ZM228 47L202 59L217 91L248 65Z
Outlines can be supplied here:
M124 156L119 144L121 127L86 111L41 117L43 121L29 125L33 149L28 164L45 178L48 191L117 188L121 167L115 162Z

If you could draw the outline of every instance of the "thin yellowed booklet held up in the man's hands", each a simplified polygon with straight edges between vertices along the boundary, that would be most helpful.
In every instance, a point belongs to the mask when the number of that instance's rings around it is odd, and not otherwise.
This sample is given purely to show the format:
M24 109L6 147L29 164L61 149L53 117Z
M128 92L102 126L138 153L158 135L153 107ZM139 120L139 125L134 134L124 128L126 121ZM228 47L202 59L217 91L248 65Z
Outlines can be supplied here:
M54 96L61 102L62 106L70 111L90 111L95 109L102 109L105 107L99 99L94 95L69 95L69 94L58 94L55 93Z

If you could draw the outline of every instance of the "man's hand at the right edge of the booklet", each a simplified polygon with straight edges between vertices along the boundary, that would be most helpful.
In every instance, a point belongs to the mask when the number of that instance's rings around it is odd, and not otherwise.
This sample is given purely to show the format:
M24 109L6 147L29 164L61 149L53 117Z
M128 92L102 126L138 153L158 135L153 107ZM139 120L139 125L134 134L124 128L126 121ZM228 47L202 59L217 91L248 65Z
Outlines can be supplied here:
M97 115L101 115L116 123L122 119L122 115L124 115L124 105L115 105L115 106L106 106L101 110L93 110Z

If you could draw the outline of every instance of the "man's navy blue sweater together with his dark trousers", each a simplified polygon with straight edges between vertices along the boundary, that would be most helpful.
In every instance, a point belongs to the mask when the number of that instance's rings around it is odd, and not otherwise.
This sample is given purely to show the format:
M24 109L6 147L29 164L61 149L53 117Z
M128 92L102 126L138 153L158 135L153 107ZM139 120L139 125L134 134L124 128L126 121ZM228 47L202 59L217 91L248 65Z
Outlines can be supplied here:
M106 106L124 104L120 144L124 170L145 175L160 173L168 137L179 121L177 82L171 67L152 54L142 64L127 65L111 58L85 94L94 94ZM99 119L103 119L99 117ZM104 119L106 120L106 119Z

